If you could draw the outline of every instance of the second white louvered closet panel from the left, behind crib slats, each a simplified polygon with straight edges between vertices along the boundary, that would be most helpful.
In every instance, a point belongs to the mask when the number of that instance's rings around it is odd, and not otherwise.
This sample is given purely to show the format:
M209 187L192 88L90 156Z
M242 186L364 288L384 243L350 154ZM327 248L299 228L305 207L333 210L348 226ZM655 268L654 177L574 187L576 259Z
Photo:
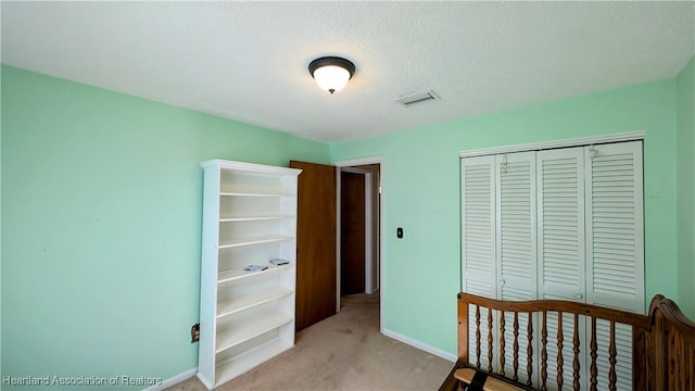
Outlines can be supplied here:
M496 167L496 261L497 298L501 300L534 300L536 292L535 249L535 152L508 153L495 156ZM515 377L514 316L505 314L505 332L497 332L496 367ZM517 318L517 378L527 382L528 315ZM504 336L504 339L503 339ZM504 346L502 345L504 341ZM503 349L504 348L504 349ZM504 366L500 357L503 356Z

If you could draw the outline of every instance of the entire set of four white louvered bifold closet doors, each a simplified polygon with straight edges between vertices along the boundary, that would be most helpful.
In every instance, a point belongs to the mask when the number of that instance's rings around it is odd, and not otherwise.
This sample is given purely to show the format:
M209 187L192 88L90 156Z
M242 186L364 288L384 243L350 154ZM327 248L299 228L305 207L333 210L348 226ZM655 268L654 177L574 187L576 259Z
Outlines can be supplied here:
M518 152L462 160L462 290L501 300L560 299L644 313L642 141ZM469 308L476 335L476 308ZM498 313L493 313L496 318ZM513 376L514 318L505 332L488 331L480 313L480 365L500 368L505 339L506 376ZM528 319L519 319L519 377L526 368ZM534 321L533 361L540 363L541 326ZM557 314L546 316L547 387L558 389ZM573 318L563 316L563 380L571 384ZM589 381L590 327L580 317L581 388ZM607 357L610 325L596 325ZM492 335L494 346L488 345ZM619 389L631 389L631 335L616 327ZM475 338L470 362L476 364ZM490 363L489 353L493 356ZM599 360L598 388L607 389L609 364ZM538 368L538 367L536 367ZM540 371L533 374L540 384Z

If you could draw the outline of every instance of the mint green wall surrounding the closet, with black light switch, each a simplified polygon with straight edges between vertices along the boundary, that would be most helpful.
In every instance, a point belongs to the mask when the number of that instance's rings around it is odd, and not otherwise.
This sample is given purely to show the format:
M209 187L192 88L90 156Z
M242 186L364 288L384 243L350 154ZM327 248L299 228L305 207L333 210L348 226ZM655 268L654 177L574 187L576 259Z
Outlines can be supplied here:
M334 162L383 157L383 327L456 352L460 151L635 130L645 133L647 302L677 298L674 79L331 146Z

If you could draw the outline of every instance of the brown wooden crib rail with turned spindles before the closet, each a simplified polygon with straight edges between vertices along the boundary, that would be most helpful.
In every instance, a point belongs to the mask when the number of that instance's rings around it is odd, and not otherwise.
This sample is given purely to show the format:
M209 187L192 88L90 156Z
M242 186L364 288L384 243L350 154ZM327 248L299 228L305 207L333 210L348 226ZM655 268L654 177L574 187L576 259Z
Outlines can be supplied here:
M624 351L626 343L631 351ZM621 354L631 356L631 368L626 369L624 356L619 358L620 344ZM520 389L617 390L627 383L633 390L695 391L695 324L661 295L654 298L648 315L641 315L571 301L498 301L459 293L458 362L440 390L460 389L453 376L462 367ZM552 378L548 370L555 373ZM621 370L632 378L619 382Z

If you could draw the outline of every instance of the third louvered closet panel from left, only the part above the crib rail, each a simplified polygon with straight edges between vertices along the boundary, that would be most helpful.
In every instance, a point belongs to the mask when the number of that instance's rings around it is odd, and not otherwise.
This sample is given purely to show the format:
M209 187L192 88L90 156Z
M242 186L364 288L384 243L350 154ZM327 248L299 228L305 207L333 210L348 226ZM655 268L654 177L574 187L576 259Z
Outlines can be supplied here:
M584 301L583 161L581 147L536 154L540 299Z

